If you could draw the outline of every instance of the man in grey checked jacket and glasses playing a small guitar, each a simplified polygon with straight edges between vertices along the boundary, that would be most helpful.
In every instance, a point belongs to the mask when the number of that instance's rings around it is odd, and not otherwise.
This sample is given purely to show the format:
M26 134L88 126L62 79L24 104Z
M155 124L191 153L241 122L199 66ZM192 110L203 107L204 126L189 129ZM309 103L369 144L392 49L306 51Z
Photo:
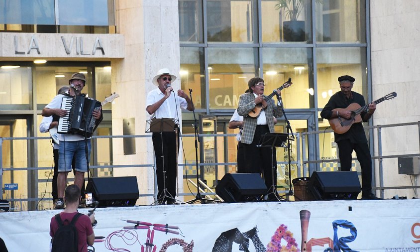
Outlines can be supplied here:
M264 182L267 188L271 188L274 169L274 185L277 182L277 163L276 151L273 156L267 148L258 147L261 135L274 132L274 117L282 117L280 102L277 106L273 99L264 100L264 80L255 77L248 81L249 92L239 97L238 115L243 116L242 136L238 145L238 149L242 149L243 156L248 157L244 162L242 172L263 173ZM281 95L279 89L276 90L278 99ZM261 110L258 117L247 116L257 105L262 104L265 107ZM273 157L273 159L272 159ZM276 188L276 187L275 187ZM276 195L269 194L269 200L276 200Z

